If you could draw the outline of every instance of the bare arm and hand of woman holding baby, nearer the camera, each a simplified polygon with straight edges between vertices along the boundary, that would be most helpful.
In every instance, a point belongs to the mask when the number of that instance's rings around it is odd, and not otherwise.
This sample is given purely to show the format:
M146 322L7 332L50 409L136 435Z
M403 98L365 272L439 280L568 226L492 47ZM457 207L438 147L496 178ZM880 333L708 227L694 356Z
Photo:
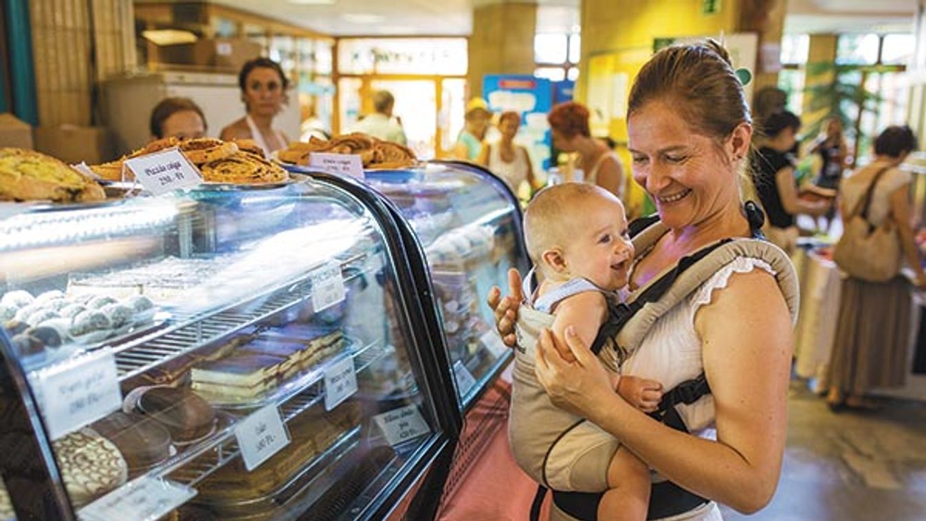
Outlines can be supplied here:
M537 377L553 403L604 428L669 480L753 513L770 501L781 472L791 318L775 280L754 271L734 275L727 288L715 292L713 302L695 316L695 329L717 412L717 441L638 414L608 389L607 373L569 330L577 362L559 359L544 331Z

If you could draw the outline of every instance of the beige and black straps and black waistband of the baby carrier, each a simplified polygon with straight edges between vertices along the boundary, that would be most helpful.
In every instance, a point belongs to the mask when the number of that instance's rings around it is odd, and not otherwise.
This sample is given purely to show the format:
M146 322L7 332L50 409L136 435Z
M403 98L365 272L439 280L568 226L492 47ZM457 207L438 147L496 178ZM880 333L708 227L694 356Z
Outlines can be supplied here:
M660 316L696 291L717 271L738 257L752 257L769 263L777 273L776 281L785 298L792 318L797 314L798 285L791 260L777 246L767 242L762 235L764 221L762 211L753 202L745 204L745 214L752 229L751 239L724 239L710 244L694 254L683 257L675 267L650 280L635 293L627 303L611 304L608 320L602 326L599 338L607 336L616 339L626 353L634 353L644 341L646 333ZM637 252L643 252L654 245L667 227L657 217L644 217L631 225L632 242ZM595 342L593 351L600 349ZM658 421L670 428L688 432L682 416L676 410L678 404L691 404L710 393L704 373L686 380L667 391L652 413ZM546 494L545 487L537 490L531 509L531 519L538 519L540 507ZM597 516L601 493L553 491L553 501L562 512L578 519L594 520ZM689 512L708 500L670 481L654 483L650 494L647 519L659 519Z

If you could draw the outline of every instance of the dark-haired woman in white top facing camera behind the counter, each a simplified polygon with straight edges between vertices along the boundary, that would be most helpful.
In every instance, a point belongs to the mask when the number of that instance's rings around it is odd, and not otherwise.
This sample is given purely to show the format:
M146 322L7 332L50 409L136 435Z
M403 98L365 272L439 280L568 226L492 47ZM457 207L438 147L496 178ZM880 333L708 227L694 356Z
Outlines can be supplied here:
M254 140L267 155L286 148L289 138L273 129L273 118L286 103L289 86L280 64L265 57L248 61L238 74L238 86L246 114L222 129L219 138Z

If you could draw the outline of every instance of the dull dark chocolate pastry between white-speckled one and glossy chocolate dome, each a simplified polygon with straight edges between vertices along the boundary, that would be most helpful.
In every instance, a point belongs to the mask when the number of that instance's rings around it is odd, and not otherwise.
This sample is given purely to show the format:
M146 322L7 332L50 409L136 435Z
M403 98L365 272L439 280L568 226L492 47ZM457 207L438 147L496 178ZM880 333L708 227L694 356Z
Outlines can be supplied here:
M170 433L153 418L116 412L92 426L119 448L131 478L170 457Z

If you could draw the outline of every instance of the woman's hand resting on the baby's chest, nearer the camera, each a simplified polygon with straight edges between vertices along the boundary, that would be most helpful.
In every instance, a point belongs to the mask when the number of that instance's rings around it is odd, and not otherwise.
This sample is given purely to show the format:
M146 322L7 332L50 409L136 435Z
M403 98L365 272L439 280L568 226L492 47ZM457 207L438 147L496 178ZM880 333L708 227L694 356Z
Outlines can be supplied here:
M541 331L534 372L557 407L597 423L596 414L604 411L607 415L613 410L610 404L620 398L607 369L571 326L566 329L566 344L557 347L553 333ZM576 361L563 360L557 349L571 351Z

